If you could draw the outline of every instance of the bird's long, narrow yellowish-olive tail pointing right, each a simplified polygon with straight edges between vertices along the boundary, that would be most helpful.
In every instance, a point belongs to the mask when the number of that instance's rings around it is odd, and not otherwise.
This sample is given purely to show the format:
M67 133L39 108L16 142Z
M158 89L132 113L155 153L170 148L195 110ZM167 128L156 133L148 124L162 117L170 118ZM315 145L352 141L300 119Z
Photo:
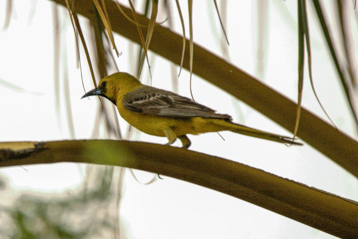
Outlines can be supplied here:
M261 138L261 139L267 139L267 140L276 141L279 143L303 145L303 143L292 141L291 137L265 132L262 130L247 127L245 125L232 123L230 121L214 120L213 123L225 128L223 130L230 130L231 132L238 133L238 134L244 134L244 135Z

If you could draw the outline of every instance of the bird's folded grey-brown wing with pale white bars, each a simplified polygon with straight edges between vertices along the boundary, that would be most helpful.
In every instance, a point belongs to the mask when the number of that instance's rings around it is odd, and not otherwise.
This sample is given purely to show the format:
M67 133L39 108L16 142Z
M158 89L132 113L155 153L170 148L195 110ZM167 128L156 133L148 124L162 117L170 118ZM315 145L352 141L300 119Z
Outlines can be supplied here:
M127 93L122 100L125 109L142 114L178 118L217 118L232 120L230 115L217 114L215 110L170 91L141 86Z

